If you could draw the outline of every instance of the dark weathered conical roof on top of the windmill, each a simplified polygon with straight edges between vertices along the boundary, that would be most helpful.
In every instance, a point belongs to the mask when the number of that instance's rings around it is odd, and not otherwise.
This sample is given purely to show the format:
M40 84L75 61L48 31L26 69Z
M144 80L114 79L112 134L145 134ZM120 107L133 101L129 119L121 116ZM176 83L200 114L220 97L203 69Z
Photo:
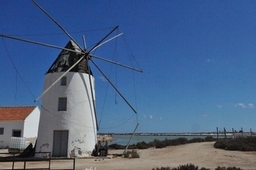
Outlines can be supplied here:
M62 50L61 53L59 53L56 60L50 66L50 69L48 69L48 72L46 74L53 73L53 72L66 72L81 57L83 57L83 55L81 55L81 53L80 53L82 50L72 40L70 40L64 48L78 51L78 53L68 51L68 50ZM83 58L83 60L80 61L80 63L78 63L69 72L89 73L88 72L88 61L86 61L86 57Z

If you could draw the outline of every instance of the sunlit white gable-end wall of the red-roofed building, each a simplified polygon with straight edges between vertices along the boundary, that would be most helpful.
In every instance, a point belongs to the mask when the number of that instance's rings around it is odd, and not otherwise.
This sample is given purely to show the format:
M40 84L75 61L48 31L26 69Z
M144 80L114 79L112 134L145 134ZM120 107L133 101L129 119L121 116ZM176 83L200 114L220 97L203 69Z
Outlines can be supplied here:
M24 123L23 137L31 138L37 137L38 125L39 125L40 110L36 107L31 114L26 117Z

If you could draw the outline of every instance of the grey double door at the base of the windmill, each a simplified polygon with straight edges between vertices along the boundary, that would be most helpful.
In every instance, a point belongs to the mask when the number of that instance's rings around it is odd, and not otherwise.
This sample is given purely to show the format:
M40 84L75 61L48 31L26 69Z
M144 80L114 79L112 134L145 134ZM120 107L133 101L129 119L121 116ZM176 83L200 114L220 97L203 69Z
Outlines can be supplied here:
M69 131L53 131L53 157L67 157Z

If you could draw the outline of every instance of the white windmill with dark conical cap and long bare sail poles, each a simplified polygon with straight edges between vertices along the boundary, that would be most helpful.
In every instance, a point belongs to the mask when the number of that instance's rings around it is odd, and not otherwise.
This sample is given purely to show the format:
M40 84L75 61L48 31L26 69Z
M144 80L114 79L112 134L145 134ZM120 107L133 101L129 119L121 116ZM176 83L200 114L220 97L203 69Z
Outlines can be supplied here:
M35 1L33 2L39 9L42 9L39 4ZM45 12L44 9L42 9L42 11ZM48 15L47 12L45 12L45 14ZM37 101L42 97L36 152L50 152L53 157L67 158L75 158L79 155L91 155L95 144L97 144L98 129L95 109L94 76L89 67L89 61L94 63L92 58L96 56L91 55L91 51L104 44L105 39L112 34L118 26L113 28L113 30L99 41L97 45L91 48L91 50L86 50L86 47L85 49L80 47L80 45L75 42L75 39L73 39L56 20L50 15L48 15L48 17L71 39L66 47L56 47L40 42L15 38L13 36L0 35L10 39L55 47L62 50L45 74L44 92L36 99ZM113 38L116 38L116 36ZM124 66L120 63L116 64ZM99 69L95 63L94 66ZM129 66L125 67L133 69ZM142 72L138 69L134 70ZM108 77L106 77L100 69L99 72L108 80ZM110 82L110 80L108 81ZM113 83L110 82L110 85L115 88ZM116 88L115 90L129 107L132 108L124 96L122 96ZM132 108L132 110L136 112L135 109ZM37 154L39 157L45 157L47 155L48 154Z

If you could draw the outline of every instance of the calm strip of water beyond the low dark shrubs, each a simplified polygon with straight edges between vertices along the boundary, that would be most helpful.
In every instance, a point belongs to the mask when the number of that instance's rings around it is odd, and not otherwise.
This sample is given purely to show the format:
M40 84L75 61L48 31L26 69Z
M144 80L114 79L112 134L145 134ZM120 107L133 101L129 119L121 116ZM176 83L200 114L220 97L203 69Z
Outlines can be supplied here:
M129 138L132 135L113 135L113 138L115 139L113 142L109 142L109 144L121 144L121 145L127 145L129 142ZM165 139L178 139L178 138L187 138L193 139L193 138L205 138L208 135L146 135L146 136L141 136L141 135L135 135L132 137L131 141L129 144L137 144L138 142L153 142L154 139L158 139L160 141L165 140ZM213 136L214 138L217 138L217 136ZM222 136L219 136L221 138Z

